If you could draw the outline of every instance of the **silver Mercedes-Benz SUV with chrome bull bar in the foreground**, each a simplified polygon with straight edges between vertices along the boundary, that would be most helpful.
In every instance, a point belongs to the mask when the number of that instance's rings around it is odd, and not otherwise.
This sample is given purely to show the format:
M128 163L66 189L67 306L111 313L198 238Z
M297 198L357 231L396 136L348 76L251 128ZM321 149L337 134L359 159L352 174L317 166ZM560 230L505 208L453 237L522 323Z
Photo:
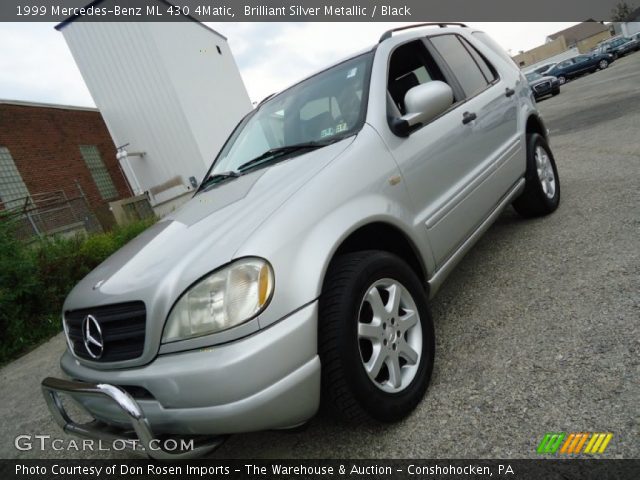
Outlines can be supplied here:
M74 288L71 380L45 379L45 398L67 432L155 458L301 425L321 399L400 420L433 369L427 299L505 207L559 199L509 56L462 24L386 32L258 105L187 204ZM169 452L167 435L197 442Z

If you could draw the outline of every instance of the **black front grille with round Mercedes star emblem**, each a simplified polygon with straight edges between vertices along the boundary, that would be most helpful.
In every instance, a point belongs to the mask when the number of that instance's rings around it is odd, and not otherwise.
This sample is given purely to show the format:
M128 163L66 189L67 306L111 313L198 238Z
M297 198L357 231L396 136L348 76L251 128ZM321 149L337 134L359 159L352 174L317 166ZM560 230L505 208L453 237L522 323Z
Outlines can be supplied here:
M98 321L102 331L104 347L98 359L89 355L84 345L82 323L87 315ZM74 353L78 357L97 362L118 362L141 356L144 350L146 317L143 302L118 303L64 313L69 342Z

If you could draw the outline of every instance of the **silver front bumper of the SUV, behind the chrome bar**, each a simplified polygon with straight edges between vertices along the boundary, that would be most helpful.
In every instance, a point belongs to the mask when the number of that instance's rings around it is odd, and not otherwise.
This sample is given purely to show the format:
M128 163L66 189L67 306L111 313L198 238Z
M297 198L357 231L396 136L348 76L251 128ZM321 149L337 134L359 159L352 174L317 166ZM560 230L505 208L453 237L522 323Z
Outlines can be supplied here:
M123 438L134 432L144 446L162 435L292 427L311 418L320 403L317 302L244 339L160 355L143 367L94 370L68 352L61 366L73 382L45 379L42 387L54 418L69 433L104 438L115 429ZM147 395L135 398L140 390ZM71 421L62 394L96 423Z

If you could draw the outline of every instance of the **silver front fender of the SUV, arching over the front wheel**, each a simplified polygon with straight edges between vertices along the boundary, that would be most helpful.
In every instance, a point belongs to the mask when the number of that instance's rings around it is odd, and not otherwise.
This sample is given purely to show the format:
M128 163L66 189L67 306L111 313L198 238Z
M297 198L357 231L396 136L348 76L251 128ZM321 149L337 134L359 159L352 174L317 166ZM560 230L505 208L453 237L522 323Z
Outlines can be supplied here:
M426 229L415 224L406 186L398 179L394 159L378 134L365 126L338 158L247 239L235 256L266 258L275 274L274 295L260 315L261 327L317 299L339 246L369 223L387 223L403 232L426 270L433 271Z

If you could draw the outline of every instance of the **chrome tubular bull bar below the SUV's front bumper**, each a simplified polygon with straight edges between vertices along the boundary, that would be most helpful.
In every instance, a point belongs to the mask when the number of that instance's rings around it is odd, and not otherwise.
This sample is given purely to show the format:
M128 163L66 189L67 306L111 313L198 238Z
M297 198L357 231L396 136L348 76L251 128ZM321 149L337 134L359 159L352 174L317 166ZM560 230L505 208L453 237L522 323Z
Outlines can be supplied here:
M54 420L65 432L83 438L111 442L122 441L124 445L130 447L135 453L147 455L154 460L186 460L201 457L218 448L226 440L226 436L213 437L198 442L194 440L194 447L188 451L169 452L161 448L154 448L154 445L159 444L160 439L153 435L149 421L145 417L142 408L131 395L115 385L106 383L93 384L47 377L42 381L42 393ZM62 404L61 394L67 394L72 398L74 395L107 397L115 402L120 410L126 414L133 432L115 429L99 420L88 423L74 422ZM135 448L136 440L140 442L144 451Z

